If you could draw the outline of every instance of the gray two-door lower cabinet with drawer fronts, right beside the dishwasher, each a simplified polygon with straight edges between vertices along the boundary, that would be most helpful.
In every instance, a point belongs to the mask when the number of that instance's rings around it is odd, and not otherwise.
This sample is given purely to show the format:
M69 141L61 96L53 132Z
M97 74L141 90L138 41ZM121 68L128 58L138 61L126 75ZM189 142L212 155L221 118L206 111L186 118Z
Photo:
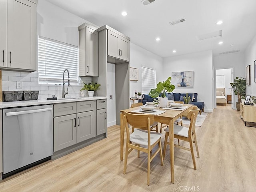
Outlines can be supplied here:
M54 152L96 136L94 109L96 100L54 105Z

